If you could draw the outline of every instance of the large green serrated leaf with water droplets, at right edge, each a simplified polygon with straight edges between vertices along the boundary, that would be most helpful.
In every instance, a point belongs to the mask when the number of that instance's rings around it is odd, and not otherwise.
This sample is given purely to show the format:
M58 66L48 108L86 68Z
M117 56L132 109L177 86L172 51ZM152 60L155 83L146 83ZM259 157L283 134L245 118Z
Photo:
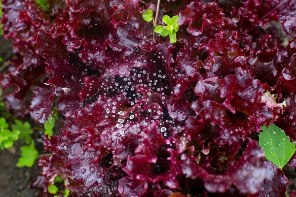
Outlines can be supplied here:
M264 125L261 130L259 145L264 150L265 158L282 169L296 151L295 142L291 142L285 131L274 124L268 128Z

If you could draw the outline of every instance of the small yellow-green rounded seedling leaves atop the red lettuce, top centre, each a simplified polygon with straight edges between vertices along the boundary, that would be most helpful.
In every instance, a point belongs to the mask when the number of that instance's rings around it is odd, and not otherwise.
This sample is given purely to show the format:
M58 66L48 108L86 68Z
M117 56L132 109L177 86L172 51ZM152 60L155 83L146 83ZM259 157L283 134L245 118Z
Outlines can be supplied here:
M169 35L170 42L172 42L172 43L177 42L177 34L176 33L179 30L179 24L178 24L179 16L173 16L171 18L168 15L164 15L162 17L162 22L164 22L166 24L166 26L155 25L155 20L153 18L153 12L150 9L146 10L146 12L144 12L142 14L142 17L147 22L153 21L155 33L159 33L161 36L164 36L164 37Z

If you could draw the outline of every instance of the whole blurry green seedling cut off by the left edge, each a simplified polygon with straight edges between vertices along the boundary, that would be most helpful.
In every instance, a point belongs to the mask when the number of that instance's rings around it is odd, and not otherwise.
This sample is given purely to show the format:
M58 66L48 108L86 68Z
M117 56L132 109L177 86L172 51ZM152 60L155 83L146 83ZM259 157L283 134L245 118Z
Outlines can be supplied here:
M0 148L11 148L13 142L18 140L20 131L9 131L5 118L0 118Z

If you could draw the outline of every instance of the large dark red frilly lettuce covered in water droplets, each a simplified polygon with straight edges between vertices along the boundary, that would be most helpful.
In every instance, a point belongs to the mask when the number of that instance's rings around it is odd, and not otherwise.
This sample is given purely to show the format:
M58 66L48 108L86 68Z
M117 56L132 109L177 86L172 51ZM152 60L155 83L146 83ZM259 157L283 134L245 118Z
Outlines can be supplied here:
M275 124L296 141L295 0L161 0L176 43L142 17L157 0L47 2L2 0L15 57L0 76L16 117L57 107L45 193L59 176L73 197L285 196L257 136Z

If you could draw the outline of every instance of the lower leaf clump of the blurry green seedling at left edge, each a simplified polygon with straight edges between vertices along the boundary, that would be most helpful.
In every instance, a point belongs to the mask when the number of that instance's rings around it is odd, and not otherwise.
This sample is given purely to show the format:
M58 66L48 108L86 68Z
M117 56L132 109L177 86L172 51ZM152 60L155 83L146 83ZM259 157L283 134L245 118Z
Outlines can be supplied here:
M13 142L18 140L20 131L14 130L9 131L8 129L0 130L0 148L11 148L13 146Z

